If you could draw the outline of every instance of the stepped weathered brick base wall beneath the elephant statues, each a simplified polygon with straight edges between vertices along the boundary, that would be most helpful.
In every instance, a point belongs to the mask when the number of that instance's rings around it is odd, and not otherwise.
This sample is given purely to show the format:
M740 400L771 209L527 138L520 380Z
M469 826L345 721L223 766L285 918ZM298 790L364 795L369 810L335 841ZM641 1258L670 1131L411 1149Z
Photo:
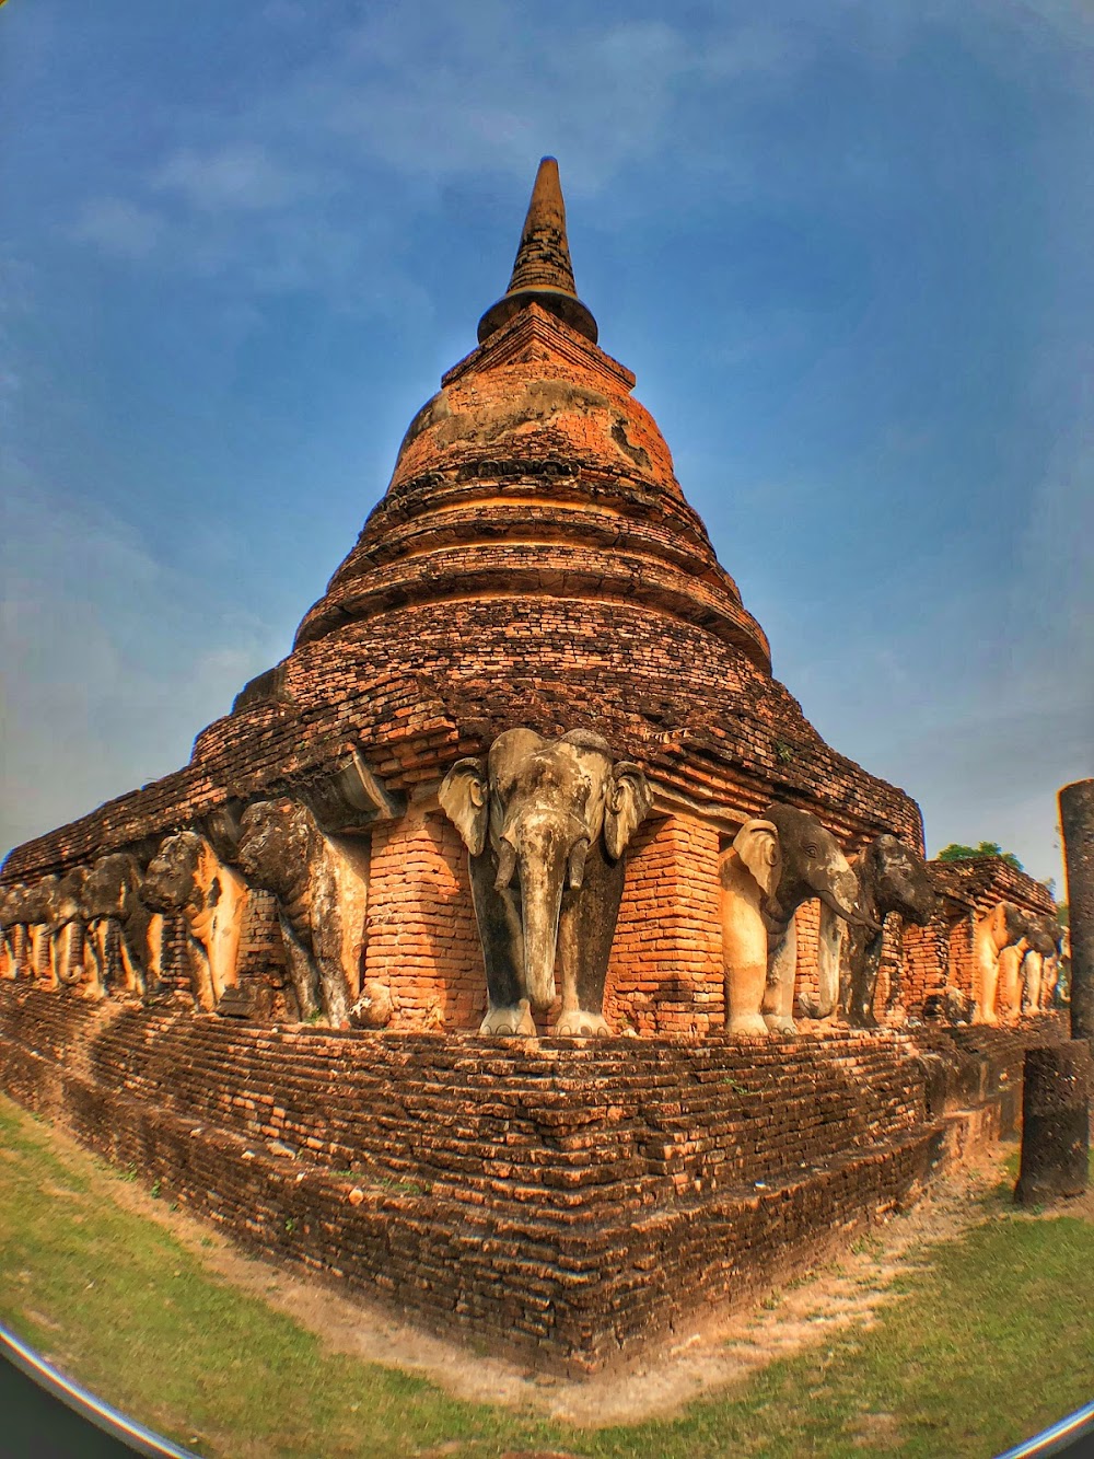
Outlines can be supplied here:
M273 1032L0 985L23 1104L261 1252L573 1371L909 1198L938 1126L907 1050Z

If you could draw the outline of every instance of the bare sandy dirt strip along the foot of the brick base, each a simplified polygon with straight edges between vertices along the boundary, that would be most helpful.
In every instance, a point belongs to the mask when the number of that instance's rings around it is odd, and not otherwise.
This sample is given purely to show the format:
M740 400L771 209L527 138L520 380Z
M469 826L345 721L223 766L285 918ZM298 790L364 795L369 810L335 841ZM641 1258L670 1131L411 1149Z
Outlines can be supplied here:
M50 1138L61 1158L77 1158L88 1169L86 1151L74 1141L58 1131ZM894 1278L922 1262L925 1243L951 1240L985 1220L982 1198L1004 1179L1004 1160L1012 1150L996 1145L936 1179L910 1211L871 1227L837 1262L783 1285L759 1309L726 1315L716 1326L675 1344L659 1342L646 1361L624 1373L582 1380L541 1374L527 1363L486 1357L473 1347L430 1336L365 1299L244 1256L216 1230L136 1185L101 1169L92 1169L89 1177L104 1196L172 1231L207 1271L287 1313L333 1351L420 1373L457 1398L602 1427L671 1414L827 1334L869 1325L882 1306L900 1300L891 1290ZM1094 1192L1050 1214L1094 1220Z

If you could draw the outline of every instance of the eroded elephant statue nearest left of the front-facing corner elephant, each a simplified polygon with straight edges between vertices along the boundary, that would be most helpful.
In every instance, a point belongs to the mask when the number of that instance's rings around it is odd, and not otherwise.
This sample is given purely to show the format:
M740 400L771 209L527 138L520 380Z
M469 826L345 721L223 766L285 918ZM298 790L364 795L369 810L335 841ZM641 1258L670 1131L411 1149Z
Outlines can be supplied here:
M238 864L273 891L300 1018L349 1021L360 992L368 862L349 837L327 836L299 801L255 801L239 820Z

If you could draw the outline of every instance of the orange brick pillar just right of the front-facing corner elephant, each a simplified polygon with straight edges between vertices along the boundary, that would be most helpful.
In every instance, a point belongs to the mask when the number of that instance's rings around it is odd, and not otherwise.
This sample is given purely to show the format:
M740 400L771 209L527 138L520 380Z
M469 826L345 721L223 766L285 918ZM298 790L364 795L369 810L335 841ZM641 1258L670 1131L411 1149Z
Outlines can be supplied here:
M725 1023L713 826L668 816L627 854L604 1014L639 1033L707 1033Z

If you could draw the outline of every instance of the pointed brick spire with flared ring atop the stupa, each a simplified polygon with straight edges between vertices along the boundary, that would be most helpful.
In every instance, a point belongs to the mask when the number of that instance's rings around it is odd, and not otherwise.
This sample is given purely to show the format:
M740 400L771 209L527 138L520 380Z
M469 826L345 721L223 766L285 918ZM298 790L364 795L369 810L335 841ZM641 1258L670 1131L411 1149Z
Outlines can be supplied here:
M554 158L540 162L509 289L478 321L478 343L500 330L528 303L548 309L597 343L597 321L578 298L573 283L570 245L566 242L566 204Z

